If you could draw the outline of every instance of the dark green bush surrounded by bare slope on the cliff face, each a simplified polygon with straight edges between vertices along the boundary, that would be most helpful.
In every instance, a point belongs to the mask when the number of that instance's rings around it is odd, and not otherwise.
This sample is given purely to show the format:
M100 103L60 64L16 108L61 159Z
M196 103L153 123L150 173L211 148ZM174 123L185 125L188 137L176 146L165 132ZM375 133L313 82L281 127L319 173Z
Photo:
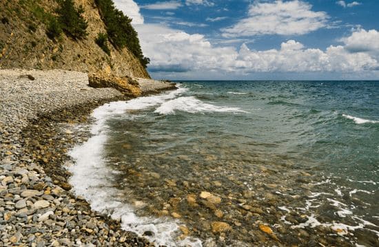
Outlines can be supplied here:
M72 0L60 0L57 14L62 30L73 39L84 39L88 35L85 30L88 27L87 21L83 18L84 10L82 6L75 8Z

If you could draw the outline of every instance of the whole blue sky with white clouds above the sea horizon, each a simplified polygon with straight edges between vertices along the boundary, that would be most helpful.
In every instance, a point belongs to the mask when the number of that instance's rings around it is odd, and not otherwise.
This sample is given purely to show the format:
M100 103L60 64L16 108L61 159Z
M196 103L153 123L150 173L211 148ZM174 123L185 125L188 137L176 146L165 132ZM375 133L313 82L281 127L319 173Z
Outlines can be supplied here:
M379 80L379 1L114 0L153 78Z

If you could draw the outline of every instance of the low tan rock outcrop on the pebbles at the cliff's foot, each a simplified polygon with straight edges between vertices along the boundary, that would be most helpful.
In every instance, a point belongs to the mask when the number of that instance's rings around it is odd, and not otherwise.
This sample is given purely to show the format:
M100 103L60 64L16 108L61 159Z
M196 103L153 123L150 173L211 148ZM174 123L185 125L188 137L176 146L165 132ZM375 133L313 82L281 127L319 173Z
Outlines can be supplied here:
M119 90L119 92L123 93L125 96L130 97L138 97L141 95L139 83L129 76L117 77L113 75L94 73L88 75L88 81L90 87L112 87Z

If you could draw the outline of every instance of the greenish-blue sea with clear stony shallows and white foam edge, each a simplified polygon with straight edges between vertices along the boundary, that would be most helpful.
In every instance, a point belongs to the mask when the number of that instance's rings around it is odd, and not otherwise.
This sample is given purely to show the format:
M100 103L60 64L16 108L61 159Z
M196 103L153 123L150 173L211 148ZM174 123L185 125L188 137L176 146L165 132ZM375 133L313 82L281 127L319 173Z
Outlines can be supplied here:
M379 246L379 81L177 87L81 126L94 210L156 246Z

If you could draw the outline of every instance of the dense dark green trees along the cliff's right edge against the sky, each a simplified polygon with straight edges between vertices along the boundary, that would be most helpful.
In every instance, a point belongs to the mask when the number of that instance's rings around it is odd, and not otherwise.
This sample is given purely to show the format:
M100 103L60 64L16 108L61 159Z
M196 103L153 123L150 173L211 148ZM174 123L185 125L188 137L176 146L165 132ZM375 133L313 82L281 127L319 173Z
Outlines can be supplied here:
M147 67L150 59L143 56L138 34L131 24L132 19L117 10L112 0L95 0L95 3L99 8L101 19L105 23L112 45L117 50L127 47L139 59L143 67Z

